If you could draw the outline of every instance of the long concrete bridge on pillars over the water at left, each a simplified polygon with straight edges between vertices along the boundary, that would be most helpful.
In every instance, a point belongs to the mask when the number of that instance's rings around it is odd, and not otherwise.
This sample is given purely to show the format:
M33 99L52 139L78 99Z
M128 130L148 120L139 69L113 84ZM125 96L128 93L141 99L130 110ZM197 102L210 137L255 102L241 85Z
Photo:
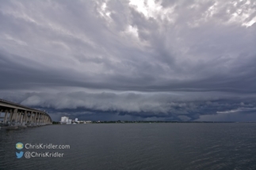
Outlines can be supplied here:
M0 126L2 128L17 129L47 124L52 124L52 119L46 112L0 99Z

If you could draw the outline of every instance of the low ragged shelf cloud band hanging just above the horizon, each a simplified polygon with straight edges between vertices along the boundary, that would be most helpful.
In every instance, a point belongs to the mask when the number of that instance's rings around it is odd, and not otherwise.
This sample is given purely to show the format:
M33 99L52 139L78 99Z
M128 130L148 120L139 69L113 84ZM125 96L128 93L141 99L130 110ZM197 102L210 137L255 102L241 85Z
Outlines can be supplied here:
M141 119L197 120L201 115L251 113L253 97L216 93L21 93L17 103L63 115L128 115ZM6 97L7 97L6 96ZM66 114L67 113L67 114Z

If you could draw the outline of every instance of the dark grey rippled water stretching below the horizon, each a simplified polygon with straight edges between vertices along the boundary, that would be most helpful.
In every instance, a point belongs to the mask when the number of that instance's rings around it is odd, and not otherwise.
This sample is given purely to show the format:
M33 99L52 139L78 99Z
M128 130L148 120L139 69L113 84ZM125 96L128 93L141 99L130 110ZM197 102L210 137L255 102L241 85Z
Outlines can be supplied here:
M256 123L124 123L0 130L0 169L256 169ZM63 157L17 159L15 144ZM22 149L34 151L34 149Z

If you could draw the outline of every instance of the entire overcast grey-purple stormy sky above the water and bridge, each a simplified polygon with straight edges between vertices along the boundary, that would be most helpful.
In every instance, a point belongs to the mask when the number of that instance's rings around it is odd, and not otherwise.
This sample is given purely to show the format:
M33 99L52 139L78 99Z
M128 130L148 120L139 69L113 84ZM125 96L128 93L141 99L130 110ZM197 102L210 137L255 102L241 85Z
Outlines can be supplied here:
M58 121L256 121L254 0L0 4L2 99Z

